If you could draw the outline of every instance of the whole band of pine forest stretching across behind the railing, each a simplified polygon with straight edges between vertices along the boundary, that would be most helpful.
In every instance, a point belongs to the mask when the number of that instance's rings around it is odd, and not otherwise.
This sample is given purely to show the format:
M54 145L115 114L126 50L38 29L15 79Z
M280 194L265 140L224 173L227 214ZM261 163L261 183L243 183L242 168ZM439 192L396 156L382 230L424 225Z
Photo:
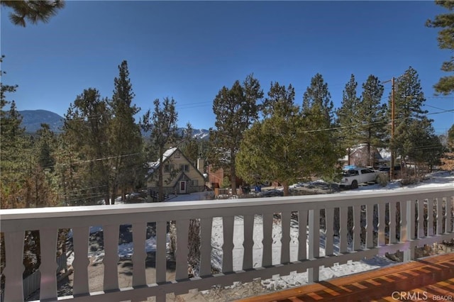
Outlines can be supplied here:
M145 189L147 163L175 145L192 162L204 157L230 173L233 191L238 175L249 184L277 181L286 195L289 185L301 179L336 181L338 160L358 145L366 146L371 166L370 150L393 150L403 169L416 167L407 172L415 178L449 160L452 139L435 134L415 69L409 67L396 79L394 137L391 96L383 96L380 79L371 74L360 87L352 74L340 108L334 108L328 83L315 74L299 105L292 84L274 82L264 97L259 80L250 74L214 96L215 127L209 141L201 141L190 135L190 124L186 135L179 132L174 99L156 99L153 109L135 121L140 108L133 104L126 61L118 65L112 96L87 88L75 97L61 133L43 124L37 133L26 134L16 102L9 100L19 88L2 83L1 208L109 205L118 196ZM162 173L157 180L162 184Z

